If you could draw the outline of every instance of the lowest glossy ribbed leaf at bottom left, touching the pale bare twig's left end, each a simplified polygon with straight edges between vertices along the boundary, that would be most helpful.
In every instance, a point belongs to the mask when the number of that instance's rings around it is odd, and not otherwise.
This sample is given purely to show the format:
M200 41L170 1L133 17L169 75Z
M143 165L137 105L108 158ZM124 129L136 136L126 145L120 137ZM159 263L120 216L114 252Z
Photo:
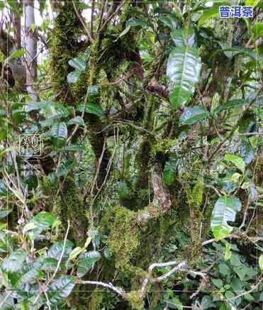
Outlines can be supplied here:
M74 288L74 277L71 275L62 275L55 280L48 288L48 296L52 305L58 305L64 301L66 297L72 292Z

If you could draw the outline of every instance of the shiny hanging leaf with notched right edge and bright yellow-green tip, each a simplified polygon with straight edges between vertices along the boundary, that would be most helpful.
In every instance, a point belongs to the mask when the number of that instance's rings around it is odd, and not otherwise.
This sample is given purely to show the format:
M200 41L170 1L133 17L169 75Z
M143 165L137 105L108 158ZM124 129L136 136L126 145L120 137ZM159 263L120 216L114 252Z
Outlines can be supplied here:
M211 229L217 241L233 231L228 221L235 221L235 215L240 210L241 202L238 198L222 196L216 201L212 212Z

